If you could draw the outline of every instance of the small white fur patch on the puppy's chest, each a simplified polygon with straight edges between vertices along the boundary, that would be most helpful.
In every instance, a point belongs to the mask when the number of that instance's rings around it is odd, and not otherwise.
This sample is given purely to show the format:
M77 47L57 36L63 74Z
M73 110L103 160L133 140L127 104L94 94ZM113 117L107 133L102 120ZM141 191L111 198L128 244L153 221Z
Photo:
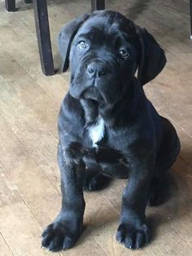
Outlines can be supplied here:
M101 117L98 117L98 121L89 127L89 137L93 142L93 147L97 147L97 142L103 139L105 133L105 124Z

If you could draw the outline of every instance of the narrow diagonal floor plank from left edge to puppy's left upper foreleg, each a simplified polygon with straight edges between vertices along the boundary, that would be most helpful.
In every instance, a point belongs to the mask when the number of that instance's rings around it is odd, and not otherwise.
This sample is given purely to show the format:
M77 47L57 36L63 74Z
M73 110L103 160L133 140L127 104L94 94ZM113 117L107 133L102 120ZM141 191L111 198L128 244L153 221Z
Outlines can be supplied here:
M50 135L45 126L41 126L41 123L33 116L33 111L22 104L20 92L15 93L14 86L12 89L8 93L1 87L2 117L10 124L11 130L20 138L37 164L43 170L46 167L49 173L47 175L50 175L53 183L59 184L59 178L56 177L59 174L56 163L57 140ZM11 109L15 109L14 112Z

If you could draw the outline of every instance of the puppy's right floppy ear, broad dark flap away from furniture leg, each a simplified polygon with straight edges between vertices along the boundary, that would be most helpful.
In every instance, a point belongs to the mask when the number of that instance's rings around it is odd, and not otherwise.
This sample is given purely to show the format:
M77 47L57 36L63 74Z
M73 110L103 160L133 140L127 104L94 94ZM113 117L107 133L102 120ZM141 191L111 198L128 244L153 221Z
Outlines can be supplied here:
M167 60L164 50L146 29L137 27L136 33L141 45L141 62L138 67L137 78L143 86L162 71Z

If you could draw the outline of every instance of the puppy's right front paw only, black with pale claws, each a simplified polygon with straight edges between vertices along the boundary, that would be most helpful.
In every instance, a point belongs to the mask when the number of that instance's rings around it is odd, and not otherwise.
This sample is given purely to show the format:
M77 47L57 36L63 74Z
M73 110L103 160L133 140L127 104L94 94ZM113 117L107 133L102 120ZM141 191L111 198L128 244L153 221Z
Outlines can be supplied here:
M116 240L126 248L139 249L150 241L150 232L146 224L135 227L133 224L121 223L117 229Z

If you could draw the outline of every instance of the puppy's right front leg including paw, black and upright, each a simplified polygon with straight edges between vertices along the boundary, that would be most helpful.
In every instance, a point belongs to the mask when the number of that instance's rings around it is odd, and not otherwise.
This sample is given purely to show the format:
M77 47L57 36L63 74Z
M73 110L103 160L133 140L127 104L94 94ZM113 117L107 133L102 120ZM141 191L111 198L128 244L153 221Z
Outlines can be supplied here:
M129 184L122 199L120 226L116 239L129 249L138 249L150 241L146 225L146 204L151 182L151 166L141 161L131 165ZM152 161L150 161L152 163Z

